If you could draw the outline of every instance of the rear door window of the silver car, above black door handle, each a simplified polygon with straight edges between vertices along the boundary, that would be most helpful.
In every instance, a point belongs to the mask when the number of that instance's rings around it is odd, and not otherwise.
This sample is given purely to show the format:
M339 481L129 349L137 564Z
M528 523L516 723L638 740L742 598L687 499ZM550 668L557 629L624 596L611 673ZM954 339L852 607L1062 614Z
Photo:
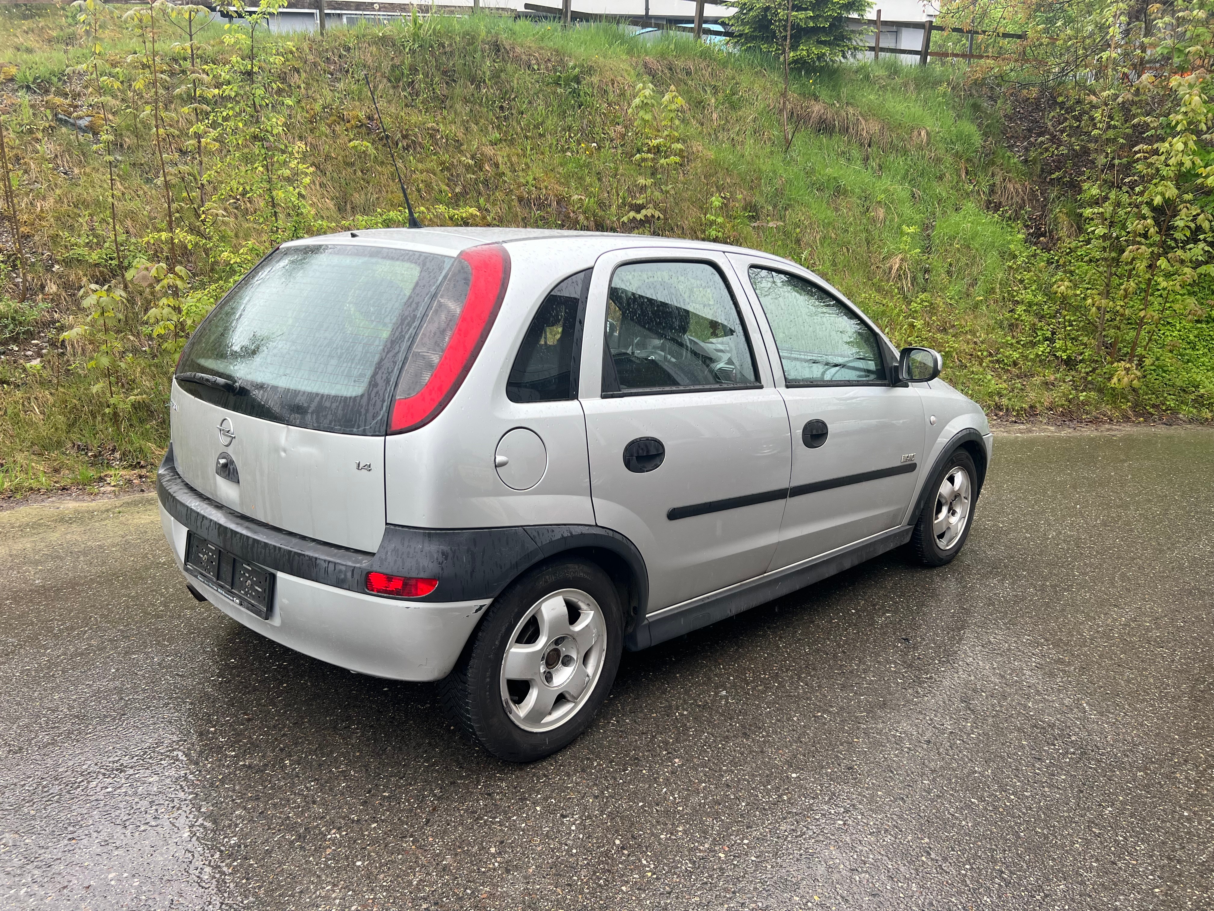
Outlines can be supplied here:
M707 262L619 266L603 353L603 395L758 385L737 304Z

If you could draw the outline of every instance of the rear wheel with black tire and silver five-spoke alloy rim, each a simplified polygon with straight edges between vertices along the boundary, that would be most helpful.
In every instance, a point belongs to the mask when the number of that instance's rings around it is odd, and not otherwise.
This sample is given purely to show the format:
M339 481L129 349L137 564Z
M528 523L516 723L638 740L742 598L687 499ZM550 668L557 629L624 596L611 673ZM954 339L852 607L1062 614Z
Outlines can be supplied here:
M456 728L499 759L531 763L572 743L615 681L624 623L599 566L562 560L506 588L439 685Z

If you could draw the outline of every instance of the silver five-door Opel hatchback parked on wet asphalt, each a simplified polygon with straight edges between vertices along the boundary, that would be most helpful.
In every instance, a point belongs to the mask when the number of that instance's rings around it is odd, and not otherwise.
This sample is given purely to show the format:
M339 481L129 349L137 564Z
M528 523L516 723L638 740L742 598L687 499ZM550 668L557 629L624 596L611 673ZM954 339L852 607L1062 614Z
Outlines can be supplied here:
M490 228L283 244L189 340L158 474L194 595L442 680L527 762L645 649L908 545L965 545L982 411L794 262Z

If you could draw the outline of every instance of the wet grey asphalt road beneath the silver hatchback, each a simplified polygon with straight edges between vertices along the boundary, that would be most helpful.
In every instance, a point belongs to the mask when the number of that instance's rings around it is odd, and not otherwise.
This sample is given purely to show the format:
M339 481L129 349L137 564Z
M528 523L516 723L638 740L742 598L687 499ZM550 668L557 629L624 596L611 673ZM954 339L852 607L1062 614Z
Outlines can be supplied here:
M0 513L0 907L1214 907L1214 432L1004 436L963 555L625 656L531 766Z

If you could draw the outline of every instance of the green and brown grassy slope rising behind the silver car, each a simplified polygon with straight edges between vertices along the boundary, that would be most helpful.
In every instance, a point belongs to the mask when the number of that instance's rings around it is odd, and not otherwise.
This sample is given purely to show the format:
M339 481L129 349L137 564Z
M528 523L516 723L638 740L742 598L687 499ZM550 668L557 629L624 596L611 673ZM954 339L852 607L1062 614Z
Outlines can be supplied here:
M79 63L85 51L58 16L0 12L0 62L18 67L0 89L18 134L27 245L40 258L36 281L51 307L40 317L44 328L72 321L83 282L117 277L106 253L104 170L87 142L49 123L53 106L87 111L79 77L64 77L66 55ZM210 30L209 61L231 56L221 36L222 29ZM120 63L135 43L115 28L106 47ZM645 44L608 27L566 32L436 19L334 30L324 40L296 35L277 41L276 52L284 57L276 94L293 102L277 109L314 169L296 232L395 223L384 215L399 197L382 147L350 145L376 141L364 70L402 136L429 223L626 230L641 176L632 157L642 141L629 106L640 83L659 92L673 85L687 102L687 152L665 181L658 233L719 237L809 265L896 344L942 350L946 378L995 412L1118 407L1034 355L1040 327L1017 313L1048 283L1045 264L1011 222L988 211L1008 172L983 136L981 109L951 83L947 67L861 63L796 80L798 104L813 126L785 154L771 61L677 35ZM164 209L148 128L134 117L121 123L124 243L131 254L164 259L163 243L140 239L161 230ZM180 163L189 165L188 154ZM193 233L187 265L214 293L272 245L263 200L225 202L204 238L177 194L178 222ZM136 322L129 328L134 333ZM146 401L120 415L104 413L90 391L96 372L73 352L52 347L41 374L0 364L0 492L90 481L100 470L154 462L166 436L171 358L147 347L132 334L135 356L123 384ZM1214 395L1201 391L1207 360L1198 357L1193 368L1192 389L1201 395L1182 392L1157 407L1208 414Z

